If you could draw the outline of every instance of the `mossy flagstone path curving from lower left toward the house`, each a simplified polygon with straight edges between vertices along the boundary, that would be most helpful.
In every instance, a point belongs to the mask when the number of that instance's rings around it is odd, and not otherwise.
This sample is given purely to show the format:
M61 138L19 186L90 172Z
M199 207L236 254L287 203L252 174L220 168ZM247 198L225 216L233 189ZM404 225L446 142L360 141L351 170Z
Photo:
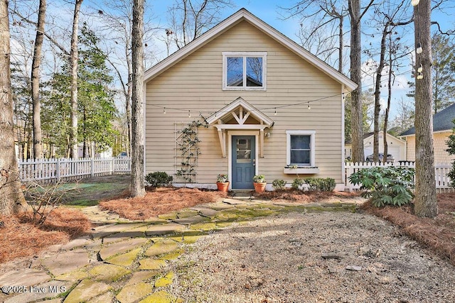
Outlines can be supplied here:
M0 285L27 292L0 293L2 302L183 302L166 290L174 273L168 264L199 238L231 224L289 212L355 211L355 203L291 204L225 199L146 221L86 207L103 224L90 236L53 248L24 268L0 275Z

